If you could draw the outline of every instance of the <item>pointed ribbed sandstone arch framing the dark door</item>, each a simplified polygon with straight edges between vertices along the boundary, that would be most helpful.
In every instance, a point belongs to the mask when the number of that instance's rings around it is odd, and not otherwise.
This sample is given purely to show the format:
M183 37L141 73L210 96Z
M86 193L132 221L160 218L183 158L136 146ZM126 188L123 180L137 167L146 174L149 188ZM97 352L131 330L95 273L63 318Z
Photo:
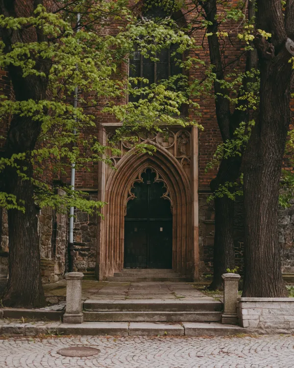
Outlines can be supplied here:
M127 154L116 165L105 187L105 220L100 246L100 279L112 276L123 268L124 214L131 186L140 173L151 168L157 180L165 183L172 202L172 268L193 278L193 240L191 188L180 163L159 145L156 153Z

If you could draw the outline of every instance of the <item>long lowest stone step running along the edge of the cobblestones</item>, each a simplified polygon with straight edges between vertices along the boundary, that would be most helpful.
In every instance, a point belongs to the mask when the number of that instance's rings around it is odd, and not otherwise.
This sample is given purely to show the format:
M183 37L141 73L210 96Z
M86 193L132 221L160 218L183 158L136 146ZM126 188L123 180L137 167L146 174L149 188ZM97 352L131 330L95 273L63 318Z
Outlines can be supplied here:
M2 336L37 335L108 335L108 336L228 336L248 334L250 330L234 325L212 323L152 323L152 322L60 322L2 323ZM208 342L209 343L209 342Z

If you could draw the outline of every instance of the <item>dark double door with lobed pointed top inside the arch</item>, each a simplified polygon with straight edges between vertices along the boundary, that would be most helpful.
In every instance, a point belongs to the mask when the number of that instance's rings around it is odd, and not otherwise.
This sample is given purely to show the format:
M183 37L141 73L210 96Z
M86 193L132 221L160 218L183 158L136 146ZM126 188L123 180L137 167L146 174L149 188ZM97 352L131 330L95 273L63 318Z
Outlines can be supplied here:
M166 188L147 169L132 189L124 221L125 268L172 268L171 203Z

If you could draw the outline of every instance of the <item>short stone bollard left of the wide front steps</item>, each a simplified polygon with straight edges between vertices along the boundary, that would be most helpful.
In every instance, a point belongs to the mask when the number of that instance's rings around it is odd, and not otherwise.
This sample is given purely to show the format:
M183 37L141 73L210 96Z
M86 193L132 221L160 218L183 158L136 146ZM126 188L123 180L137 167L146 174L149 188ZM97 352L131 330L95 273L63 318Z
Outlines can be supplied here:
M64 323L82 323L82 272L68 272L64 275L66 281L66 309L63 315Z

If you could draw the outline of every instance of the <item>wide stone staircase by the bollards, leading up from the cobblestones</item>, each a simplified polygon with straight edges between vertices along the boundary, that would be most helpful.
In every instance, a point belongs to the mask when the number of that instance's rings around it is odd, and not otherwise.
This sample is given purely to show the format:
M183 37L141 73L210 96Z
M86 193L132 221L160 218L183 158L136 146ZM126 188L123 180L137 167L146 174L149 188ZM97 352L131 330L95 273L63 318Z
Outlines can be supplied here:
M240 326L221 324L221 308L221 302L214 300L86 300L83 304L83 328L88 334L101 334L103 331L108 335L125 333L128 336L246 333Z

